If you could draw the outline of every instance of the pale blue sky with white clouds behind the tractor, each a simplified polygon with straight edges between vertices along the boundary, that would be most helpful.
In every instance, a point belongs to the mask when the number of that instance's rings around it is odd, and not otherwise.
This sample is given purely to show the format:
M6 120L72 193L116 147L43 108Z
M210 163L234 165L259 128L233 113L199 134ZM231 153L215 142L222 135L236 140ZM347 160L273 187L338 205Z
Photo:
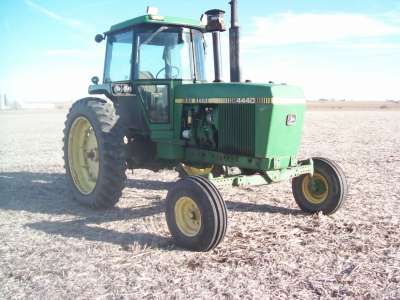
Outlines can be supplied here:
M96 33L145 14L199 19L228 0L0 0L0 94L73 101L101 78ZM308 99L400 100L399 0L238 0L242 77L301 86ZM229 80L228 33L222 34ZM211 44L208 74L213 74ZM212 80L211 78L209 78Z

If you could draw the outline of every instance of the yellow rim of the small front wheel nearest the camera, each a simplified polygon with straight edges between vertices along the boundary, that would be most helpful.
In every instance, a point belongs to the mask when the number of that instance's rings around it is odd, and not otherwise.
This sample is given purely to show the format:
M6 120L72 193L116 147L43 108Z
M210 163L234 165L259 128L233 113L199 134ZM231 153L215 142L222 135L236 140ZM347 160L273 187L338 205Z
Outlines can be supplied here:
M181 197L175 204L175 220L179 230L186 236L193 237L201 227L201 212L196 202L190 197Z

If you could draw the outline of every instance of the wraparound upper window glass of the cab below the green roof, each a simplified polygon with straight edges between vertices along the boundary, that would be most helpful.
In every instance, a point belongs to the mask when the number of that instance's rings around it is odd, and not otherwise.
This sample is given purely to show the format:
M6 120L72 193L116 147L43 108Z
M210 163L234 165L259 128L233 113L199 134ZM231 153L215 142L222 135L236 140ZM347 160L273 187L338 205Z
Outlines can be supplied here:
M203 81L204 47L203 34L195 29L162 26L118 33L108 38L104 79L130 80L133 71L136 80Z

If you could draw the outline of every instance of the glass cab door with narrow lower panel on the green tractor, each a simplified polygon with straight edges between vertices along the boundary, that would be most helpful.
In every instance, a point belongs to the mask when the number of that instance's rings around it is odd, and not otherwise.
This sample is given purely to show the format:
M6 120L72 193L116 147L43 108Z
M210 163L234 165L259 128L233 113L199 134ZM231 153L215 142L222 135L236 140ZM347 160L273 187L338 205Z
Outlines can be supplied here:
M153 140L173 138L173 86L192 78L190 30L169 26L136 29L133 86L143 103Z

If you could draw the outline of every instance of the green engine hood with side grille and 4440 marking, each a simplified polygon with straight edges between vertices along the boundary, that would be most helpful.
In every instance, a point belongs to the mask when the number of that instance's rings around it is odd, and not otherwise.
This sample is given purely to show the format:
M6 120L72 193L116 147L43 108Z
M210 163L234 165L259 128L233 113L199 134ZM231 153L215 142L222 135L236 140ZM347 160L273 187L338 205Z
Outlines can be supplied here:
M298 87L254 83L187 84L177 86L175 97L199 99L199 104L176 104L179 107L207 103L217 107L219 146L214 150L264 159L261 166L264 170L283 169L295 163L305 110L304 103L298 103L298 99L304 99ZM242 102L271 99L272 103L229 104L231 99ZM286 124L288 115L296 117L296 122L290 126ZM252 162L241 166L255 168Z

